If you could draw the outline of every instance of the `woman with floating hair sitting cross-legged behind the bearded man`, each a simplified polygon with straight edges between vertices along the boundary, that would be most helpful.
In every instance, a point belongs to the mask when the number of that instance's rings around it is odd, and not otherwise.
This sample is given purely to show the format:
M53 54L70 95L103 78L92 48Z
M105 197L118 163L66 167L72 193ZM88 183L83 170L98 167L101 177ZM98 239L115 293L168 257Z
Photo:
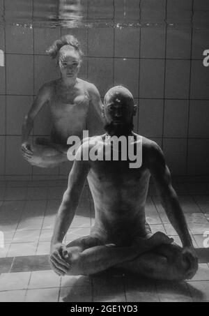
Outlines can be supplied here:
M22 153L24 158L38 167L56 167L68 160L68 137L78 136L82 140L86 129L89 107L94 107L101 117L102 101L98 89L77 77L82 65L82 50L74 36L63 36L56 40L47 53L58 59L61 79L47 82L38 91L22 126ZM45 103L52 115L52 131L49 138L37 137L35 144L29 143L33 120Z

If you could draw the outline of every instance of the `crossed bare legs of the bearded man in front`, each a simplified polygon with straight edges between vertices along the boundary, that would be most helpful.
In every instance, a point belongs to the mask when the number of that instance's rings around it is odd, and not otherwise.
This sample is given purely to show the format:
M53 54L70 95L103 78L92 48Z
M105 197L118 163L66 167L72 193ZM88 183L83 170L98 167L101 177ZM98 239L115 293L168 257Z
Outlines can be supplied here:
M69 275L91 275L113 266L158 280L185 280L189 264L183 249L169 243L169 237L157 232L144 246L104 245L94 236L72 241L68 248Z

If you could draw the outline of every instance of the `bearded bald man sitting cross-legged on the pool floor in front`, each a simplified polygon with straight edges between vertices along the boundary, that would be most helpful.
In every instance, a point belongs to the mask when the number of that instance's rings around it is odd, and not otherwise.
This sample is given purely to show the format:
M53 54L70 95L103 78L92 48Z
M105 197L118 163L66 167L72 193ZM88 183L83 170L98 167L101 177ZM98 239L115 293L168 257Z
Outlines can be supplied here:
M102 110L107 133L95 137L95 144L94 137L84 141L77 151L77 157L80 154L84 157L96 147L98 156L101 151L103 155L109 137L132 136L134 146L142 141L142 164L131 168L128 159L75 159L56 217L49 258L52 269L61 276L91 275L114 266L148 278L185 280L193 278L198 269L192 239L162 150L155 142L132 132L136 110L132 94L123 86L108 91ZM152 234L146 223L150 175L183 248L162 232ZM89 236L65 246L62 241L75 216L86 178L95 205L95 225Z

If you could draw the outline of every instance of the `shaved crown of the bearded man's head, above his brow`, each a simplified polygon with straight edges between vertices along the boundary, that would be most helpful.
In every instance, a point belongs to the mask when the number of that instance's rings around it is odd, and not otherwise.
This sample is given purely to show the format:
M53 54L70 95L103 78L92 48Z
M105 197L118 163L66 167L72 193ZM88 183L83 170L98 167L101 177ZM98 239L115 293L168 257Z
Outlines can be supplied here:
M109 101L121 103L125 100L127 103L132 103L132 105L134 105L134 97L128 89L126 89L124 86L114 86L113 88L109 89L109 91L107 91L106 95L104 96L104 106L107 105Z

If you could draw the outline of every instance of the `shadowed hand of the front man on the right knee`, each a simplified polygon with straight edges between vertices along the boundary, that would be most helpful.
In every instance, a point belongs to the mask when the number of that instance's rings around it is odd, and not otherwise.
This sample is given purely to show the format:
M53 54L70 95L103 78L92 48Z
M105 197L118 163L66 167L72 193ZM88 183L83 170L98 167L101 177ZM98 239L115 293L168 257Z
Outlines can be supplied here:
M199 259L193 246L183 248L183 258L187 262L189 268L187 270L187 280L194 278L197 270Z

